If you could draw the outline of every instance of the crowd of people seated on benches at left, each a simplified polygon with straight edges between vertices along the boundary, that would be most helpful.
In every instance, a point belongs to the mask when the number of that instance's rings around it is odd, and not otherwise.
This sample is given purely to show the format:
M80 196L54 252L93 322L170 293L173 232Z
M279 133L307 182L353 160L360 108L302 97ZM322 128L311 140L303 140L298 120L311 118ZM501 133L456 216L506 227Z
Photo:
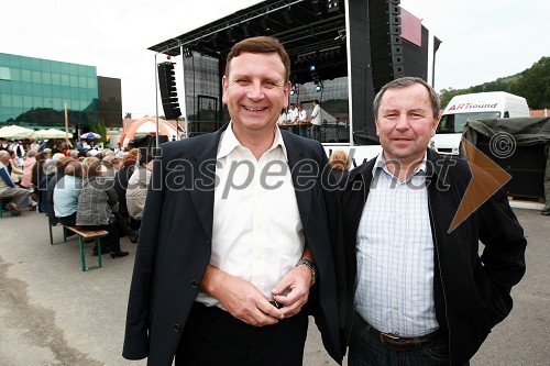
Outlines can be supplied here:
M0 143L0 199L12 215L37 210L52 225L106 230L101 253L128 255L120 237L138 242L153 168L146 149L99 149L94 143L79 149L81 143L70 148L62 141Z

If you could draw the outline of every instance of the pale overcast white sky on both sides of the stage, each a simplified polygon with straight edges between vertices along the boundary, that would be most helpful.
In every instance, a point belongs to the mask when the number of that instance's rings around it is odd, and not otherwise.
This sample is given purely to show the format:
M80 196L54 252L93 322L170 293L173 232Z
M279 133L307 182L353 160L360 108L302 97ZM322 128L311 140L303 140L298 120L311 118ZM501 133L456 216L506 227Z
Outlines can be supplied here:
M124 114L154 115L155 54L147 47L257 2L3 1L0 53L96 66L98 76L121 79ZM493 81L550 56L548 0L402 0L402 7L442 41L437 90Z

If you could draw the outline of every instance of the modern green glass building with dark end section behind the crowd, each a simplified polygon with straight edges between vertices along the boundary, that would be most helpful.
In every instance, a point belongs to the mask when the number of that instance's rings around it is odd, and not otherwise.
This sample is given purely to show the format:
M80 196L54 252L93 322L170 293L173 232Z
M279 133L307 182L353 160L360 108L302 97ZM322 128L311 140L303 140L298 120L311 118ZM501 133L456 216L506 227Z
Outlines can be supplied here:
M121 126L120 80L113 80L118 82L109 82L103 121ZM0 53L0 126L61 127L65 108L72 127L95 125L102 118L100 96L95 66Z

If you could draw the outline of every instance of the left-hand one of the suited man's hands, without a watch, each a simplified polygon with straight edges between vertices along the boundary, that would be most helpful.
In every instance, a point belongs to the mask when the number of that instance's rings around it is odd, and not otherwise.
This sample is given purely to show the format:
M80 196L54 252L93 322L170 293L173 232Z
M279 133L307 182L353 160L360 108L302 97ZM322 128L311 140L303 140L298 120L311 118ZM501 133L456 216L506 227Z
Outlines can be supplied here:
M254 285L211 265L208 265L200 286L217 298L231 315L248 324L272 325L285 318L283 311L271 304Z

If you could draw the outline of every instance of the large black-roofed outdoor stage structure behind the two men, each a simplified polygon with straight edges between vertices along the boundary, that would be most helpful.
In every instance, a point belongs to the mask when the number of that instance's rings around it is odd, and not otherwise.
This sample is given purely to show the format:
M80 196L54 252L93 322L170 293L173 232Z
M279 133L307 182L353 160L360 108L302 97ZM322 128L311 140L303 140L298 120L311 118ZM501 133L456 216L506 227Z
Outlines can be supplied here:
M272 35L285 45L290 102L310 113L314 99L320 100L323 142L350 145L378 143L375 93L402 76L429 79L428 43L433 53L440 44L399 0L262 1L148 48L155 57L182 55L179 100L189 136L229 121L221 102L226 57L235 42L254 35Z

